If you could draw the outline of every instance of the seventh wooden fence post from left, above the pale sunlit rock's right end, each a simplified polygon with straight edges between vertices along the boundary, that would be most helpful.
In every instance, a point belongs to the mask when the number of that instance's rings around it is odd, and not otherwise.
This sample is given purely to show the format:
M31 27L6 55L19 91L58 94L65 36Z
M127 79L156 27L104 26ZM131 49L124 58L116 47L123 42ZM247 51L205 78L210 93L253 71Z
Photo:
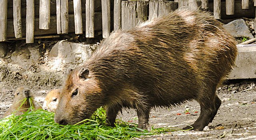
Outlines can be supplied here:
M86 9L86 37L94 37L94 0L86 0L85 4Z

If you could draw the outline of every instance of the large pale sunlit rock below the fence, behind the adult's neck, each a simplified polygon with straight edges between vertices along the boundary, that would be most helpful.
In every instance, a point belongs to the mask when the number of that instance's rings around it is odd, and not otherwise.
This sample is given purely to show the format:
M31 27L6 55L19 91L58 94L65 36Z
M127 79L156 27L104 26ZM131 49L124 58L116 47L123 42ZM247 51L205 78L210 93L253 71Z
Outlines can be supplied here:
M70 65L80 65L89 59L95 45L58 41L49 53L52 61L52 69L63 71L63 68Z

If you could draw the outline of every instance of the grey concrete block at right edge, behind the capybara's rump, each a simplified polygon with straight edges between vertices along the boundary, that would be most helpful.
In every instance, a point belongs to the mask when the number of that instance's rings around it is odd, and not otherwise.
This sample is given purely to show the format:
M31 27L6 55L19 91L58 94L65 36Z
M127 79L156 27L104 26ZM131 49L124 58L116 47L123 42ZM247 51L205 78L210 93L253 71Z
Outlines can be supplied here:
M238 56L234 70L227 79L256 78L256 44L237 45Z

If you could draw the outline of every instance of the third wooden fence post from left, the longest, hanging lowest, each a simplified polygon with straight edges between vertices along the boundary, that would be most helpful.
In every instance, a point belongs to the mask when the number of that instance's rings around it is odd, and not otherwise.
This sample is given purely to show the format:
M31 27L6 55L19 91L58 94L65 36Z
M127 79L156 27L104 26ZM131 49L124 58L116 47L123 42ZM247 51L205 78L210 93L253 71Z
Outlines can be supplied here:
M26 0L26 43L34 43L34 0Z

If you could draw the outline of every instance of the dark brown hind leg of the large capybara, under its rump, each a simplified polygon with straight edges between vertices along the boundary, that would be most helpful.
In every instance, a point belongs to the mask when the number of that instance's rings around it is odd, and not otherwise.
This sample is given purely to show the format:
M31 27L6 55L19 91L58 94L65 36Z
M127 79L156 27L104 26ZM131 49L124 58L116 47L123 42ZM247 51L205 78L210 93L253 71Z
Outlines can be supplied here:
M206 97L207 98L207 97ZM209 100L210 99L210 100ZM198 101L198 100L197 100ZM214 92L214 97L207 99L200 99L198 101L201 107L200 116L191 126L194 130L203 130L210 122L212 122L214 116L217 114L217 111L221 105L221 101ZM190 126L183 128L184 130L190 129Z

